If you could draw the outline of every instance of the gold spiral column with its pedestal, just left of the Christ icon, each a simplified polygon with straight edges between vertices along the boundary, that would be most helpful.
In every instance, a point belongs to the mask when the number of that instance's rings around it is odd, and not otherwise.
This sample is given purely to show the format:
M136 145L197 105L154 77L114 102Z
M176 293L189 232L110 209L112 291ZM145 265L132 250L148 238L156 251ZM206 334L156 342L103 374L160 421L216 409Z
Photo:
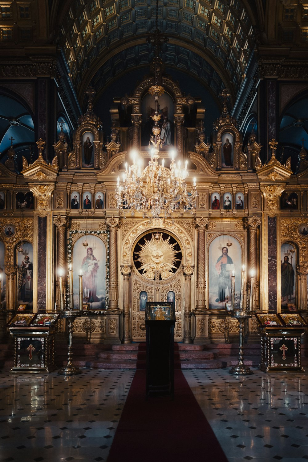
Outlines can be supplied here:
M195 315L195 338L193 343L203 345L210 343L209 340L209 316L205 306L205 228L208 225L207 218L196 219L197 237L197 304L194 310Z

